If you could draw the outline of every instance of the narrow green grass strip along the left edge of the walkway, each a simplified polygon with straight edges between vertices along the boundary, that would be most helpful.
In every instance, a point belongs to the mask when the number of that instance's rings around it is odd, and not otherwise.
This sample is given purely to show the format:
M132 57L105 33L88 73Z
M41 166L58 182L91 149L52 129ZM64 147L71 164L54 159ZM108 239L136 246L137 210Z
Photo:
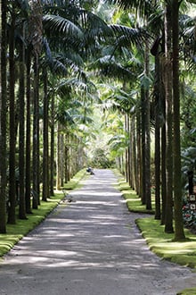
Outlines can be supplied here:
M64 189L67 193L69 190L74 190L79 185L79 181L86 176L86 170L81 170L68 183L65 184ZM64 194L60 191L47 199L47 202L41 201L38 209L33 209L32 214L27 215L27 220L16 220L16 224L7 224L6 234L0 234L0 257L3 257L12 247L28 232L32 231L45 217L53 211L53 209L64 198ZM18 210L18 209L17 209Z

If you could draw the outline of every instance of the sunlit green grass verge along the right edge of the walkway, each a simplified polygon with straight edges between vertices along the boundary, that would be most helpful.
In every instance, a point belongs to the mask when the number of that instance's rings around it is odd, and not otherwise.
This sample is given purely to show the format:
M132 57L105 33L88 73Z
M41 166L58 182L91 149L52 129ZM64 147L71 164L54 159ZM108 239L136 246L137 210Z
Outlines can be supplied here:
M127 207L131 212L153 214L154 199L152 196L152 210L145 210L145 206L141 204L141 199L130 189L127 182L120 178L118 181L118 190L122 191L123 197L127 201ZM159 220L155 220L154 216L136 219L135 223L142 232L143 238L146 240L149 248L156 255L163 259L167 259L179 265L185 265L196 271L196 235L185 230L186 240L183 242L173 241L174 234L166 233L164 225L160 225ZM196 285L196 283L195 283ZM177 295L195 295L196 288L180 291Z

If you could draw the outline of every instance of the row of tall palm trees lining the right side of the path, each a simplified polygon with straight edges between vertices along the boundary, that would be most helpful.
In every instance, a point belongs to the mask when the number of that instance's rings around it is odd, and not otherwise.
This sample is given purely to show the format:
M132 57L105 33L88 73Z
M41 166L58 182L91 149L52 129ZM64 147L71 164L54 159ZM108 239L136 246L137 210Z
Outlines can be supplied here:
M155 63L154 77L152 77L154 82L152 84L149 72L149 44L145 44L143 80L141 80L140 84L140 105L137 107L140 110L139 117L138 112L130 116L130 110L133 110L130 99L129 106L124 105L123 108L123 112L127 114L126 129L127 132L131 131L132 138L127 149L127 159L130 158L129 161L131 163L127 165L127 180L137 190L147 209L151 209L149 139L150 119L153 119L155 128L155 218L161 218L161 223L165 224L166 232L174 232L174 206L175 239L184 240L179 92L179 39L184 34L183 31L179 32L179 21L184 22L183 20L186 20L188 23L189 20L192 30L194 30L194 22L187 15L182 15L181 19L179 19L179 8L182 4L180 1L159 3L156 1L119 0L111 2L118 3L125 9L137 8L139 13L145 16L147 30L151 31L151 36L155 39L151 45L151 55L154 56ZM190 34L186 34L183 37L183 42L180 44L183 51L184 44L189 44L189 52L186 50L185 56L189 61L192 60L194 51L192 30L189 30ZM187 46L185 47L187 48ZM132 80L132 88L135 88L134 83L135 80ZM152 92L153 101L150 104L149 90L152 85L154 85ZM118 99L118 96L116 97ZM125 101L123 101L124 104ZM119 105L121 108L123 107L121 102ZM150 106L154 108L153 116L151 115ZM136 151L135 142L138 142ZM140 168L137 168L138 166ZM140 181L138 181L138 175L141 177L141 180L139 178ZM160 191L162 206L160 206Z

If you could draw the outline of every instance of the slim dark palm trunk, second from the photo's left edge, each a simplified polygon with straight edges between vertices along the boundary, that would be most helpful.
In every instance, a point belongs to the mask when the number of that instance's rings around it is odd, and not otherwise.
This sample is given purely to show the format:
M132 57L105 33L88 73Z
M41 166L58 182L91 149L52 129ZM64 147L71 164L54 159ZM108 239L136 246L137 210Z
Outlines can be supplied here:
M8 223L16 223L15 203L16 203L16 177L15 177L15 11L12 4L12 23L9 38L9 75L10 75L10 108L9 108L9 206L8 206Z

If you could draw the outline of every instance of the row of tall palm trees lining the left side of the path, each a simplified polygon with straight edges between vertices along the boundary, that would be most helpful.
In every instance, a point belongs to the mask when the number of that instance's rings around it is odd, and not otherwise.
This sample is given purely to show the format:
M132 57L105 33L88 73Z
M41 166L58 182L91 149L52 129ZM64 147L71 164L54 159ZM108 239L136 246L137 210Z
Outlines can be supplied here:
M63 1L58 5L55 1L39 0L1 2L0 232L6 232L7 220L8 223L16 222L16 190L21 219L26 219L31 206L37 208L39 205L41 182L42 199L46 201L50 194L53 195L56 122L58 143L63 143L61 126L62 123L69 124L69 108L74 104L70 102L71 89L75 89L73 95L78 96L80 87L86 97L94 91L81 66L90 52L90 42L94 41L95 32L92 31L96 27L92 15L76 4ZM105 28L102 21L102 30ZM62 104L64 108L61 108ZM81 108L79 102L77 108L75 114L71 114L75 118ZM76 147L81 147L79 139L69 130L66 131L66 144L58 144L57 148L65 147L64 153L70 157ZM70 142L74 142L72 147ZM84 164L82 152L78 154L80 160L74 167L72 165L71 172L69 163L66 165L63 177L67 180ZM59 151L57 155L60 155ZM59 162L56 162L58 176L62 174Z

